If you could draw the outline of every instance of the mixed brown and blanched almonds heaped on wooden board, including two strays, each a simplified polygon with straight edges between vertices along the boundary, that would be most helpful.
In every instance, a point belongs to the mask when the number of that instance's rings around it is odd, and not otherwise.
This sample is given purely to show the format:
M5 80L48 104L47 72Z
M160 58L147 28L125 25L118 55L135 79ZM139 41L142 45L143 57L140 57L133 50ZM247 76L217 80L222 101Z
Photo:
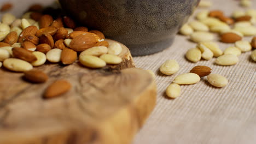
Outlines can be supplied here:
M8 5L7 5L8 6ZM5 11L7 9L5 5ZM79 62L88 68L103 68L107 64L120 64L122 47L108 43L100 31L77 27L68 16L42 14L42 5L32 5L21 19L5 13L0 23L0 67L24 72L26 80L42 83L48 80L43 71L33 69L46 61L69 65ZM2 63L3 62L3 63ZM71 84L57 80L45 91L45 98L67 92Z

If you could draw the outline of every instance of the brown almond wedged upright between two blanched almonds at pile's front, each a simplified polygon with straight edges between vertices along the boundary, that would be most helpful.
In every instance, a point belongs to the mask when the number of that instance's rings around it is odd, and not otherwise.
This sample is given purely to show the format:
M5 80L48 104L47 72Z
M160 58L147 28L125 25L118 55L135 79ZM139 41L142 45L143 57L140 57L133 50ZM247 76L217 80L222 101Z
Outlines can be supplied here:
M77 52L72 49L64 48L61 52L61 62L63 64L72 64L77 60Z

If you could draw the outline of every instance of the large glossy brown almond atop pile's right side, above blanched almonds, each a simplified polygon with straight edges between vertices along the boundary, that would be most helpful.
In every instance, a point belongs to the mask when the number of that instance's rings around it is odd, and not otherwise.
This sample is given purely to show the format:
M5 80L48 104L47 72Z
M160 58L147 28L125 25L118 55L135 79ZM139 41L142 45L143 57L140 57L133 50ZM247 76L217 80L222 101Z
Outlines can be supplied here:
M82 35L78 35L75 37L69 47L74 51L84 51L89 49L90 47L95 46L96 43L100 41L100 37L98 37L95 33L86 33Z

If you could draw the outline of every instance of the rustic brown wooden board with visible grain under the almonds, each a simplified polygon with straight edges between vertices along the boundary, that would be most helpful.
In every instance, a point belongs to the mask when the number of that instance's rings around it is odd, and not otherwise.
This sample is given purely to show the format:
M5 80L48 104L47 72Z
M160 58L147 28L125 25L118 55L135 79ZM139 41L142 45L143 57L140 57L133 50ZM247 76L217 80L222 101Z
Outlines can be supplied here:
M122 46L124 62L116 66L45 64L38 68L50 77L43 84L1 68L0 143L131 143L154 109L156 85L147 71L134 68L130 51ZM43 99L45 88L57 79L71 82L71 91Z

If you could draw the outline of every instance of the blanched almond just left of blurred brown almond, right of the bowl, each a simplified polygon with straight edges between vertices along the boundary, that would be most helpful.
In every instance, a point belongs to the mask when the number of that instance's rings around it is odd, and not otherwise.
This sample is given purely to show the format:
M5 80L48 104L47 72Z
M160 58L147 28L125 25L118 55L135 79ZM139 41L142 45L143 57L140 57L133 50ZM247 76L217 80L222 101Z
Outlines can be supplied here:
M203 41L212 41L214 40L214 36L209 32L194 32L190 35L190 39L195 43L199 43Z

